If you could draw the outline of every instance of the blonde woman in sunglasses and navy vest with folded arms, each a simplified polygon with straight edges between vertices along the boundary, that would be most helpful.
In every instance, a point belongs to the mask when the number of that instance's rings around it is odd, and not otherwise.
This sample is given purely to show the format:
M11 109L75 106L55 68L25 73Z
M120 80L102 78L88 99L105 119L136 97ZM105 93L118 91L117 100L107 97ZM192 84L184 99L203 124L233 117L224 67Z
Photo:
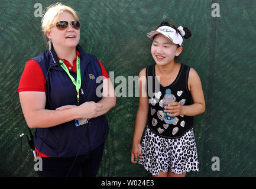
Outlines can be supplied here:
M49 6L41 27L49 50L26 63L18 89L27 125L36 128L35 153L43 159L38 175L95 177L114 87L101 62L78 45L80 21L72 8ZM103 81L96 82L98 77Z

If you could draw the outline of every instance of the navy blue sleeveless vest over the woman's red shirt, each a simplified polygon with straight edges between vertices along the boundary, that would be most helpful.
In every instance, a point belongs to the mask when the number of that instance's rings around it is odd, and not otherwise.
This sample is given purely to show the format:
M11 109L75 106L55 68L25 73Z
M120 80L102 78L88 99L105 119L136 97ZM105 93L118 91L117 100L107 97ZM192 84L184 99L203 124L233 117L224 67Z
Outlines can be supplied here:
M96 88L102 82L96 83L96 78L102 76L101 66L95 56L86 54L79 45L76 50L80 53L81 89L84 93L79 91L79 105L89 101L99 102L101 97L96 96ZM53 56L47 50L33 58L40 65L46 79L45 109L55 110L64 105L77 105L76 87L61 66L53 66L54 61L59 62L59 58L54 49L51 52ZM76 73L70 71L70 74L76 79ZM50 157L74 157L88 154L101 145L107 136L108 122L105 115L102 115L81 126L75 126L70 121L51 128L37 128L34 143L38 151Z

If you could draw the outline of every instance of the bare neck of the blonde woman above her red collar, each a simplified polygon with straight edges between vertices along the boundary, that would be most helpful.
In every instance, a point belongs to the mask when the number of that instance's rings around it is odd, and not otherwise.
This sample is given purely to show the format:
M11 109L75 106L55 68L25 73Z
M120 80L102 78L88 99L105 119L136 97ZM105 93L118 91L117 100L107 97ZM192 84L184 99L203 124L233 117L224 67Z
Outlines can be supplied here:
M73 60L76 58L76 47L54 47L54 50L59 58L66 59L73 66Z

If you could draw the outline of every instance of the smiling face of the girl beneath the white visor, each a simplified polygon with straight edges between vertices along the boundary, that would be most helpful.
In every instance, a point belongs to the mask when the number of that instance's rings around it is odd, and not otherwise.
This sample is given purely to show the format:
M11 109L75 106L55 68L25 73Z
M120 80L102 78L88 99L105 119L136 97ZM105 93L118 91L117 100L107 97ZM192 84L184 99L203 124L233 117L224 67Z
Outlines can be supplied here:
M164 35L155 35L151 45L151 54L156 64L164 66L171 63L180 53L182 53L182 47L177 48L177 45L171 43Z

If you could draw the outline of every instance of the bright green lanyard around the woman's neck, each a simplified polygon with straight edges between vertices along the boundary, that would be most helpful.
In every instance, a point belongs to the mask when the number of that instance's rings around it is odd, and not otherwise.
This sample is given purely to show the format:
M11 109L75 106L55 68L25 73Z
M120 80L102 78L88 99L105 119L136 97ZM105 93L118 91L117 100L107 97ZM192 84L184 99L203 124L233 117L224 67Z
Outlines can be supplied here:
M77 92L77 106L79 103L79 89L81 87L81 73L80 73L80 58L77 55L76 57L76 80L74 80L74 77L70 75L69 70L67 69L67 66L63 63L63 61L59 60L60 63L62 63L60 66L63 68L64 71L66 71L69 78L72 80L74 86L76 86L76 92Z

